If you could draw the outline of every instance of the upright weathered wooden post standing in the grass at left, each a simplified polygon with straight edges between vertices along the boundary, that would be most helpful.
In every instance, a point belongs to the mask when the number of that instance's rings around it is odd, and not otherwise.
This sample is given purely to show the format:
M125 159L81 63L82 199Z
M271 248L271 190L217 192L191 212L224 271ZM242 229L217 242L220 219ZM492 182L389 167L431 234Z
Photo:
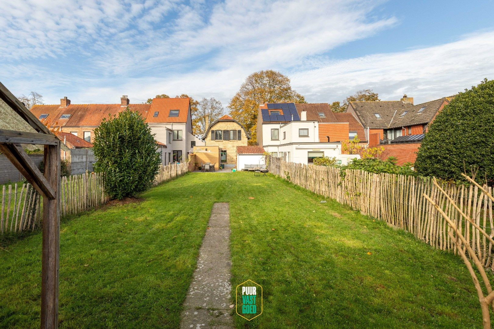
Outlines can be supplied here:
M60 144L44 146L44 176L55 191L55 198L43 198L41 329L57 329L60 256Z

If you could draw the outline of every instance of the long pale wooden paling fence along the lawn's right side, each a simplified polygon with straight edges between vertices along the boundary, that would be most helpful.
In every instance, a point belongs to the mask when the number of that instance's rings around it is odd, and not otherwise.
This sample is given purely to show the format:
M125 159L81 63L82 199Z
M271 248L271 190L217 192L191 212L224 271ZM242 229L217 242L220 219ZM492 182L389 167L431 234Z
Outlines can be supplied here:
M452 229L424 198L429 195L465 233L467 242L482 264L494 270L493 245L465 220L431 179L362 170L303 165L271 157L269 172L317 194L349 205L362 214L382 219L411 232L425 243L456 253L448 232ZM461 211L468 214L491 237L494 236L493 202L477 186L442 183ZM492 193L493 188L485 186ZM487 240L487 241L486 241ZM465 251L465 246L462 246Z

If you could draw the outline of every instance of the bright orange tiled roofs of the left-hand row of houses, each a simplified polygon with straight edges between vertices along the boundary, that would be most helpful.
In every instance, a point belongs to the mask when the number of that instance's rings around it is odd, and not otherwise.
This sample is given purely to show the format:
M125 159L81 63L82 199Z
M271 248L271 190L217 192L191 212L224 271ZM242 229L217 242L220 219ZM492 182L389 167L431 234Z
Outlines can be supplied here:
M139 112L147 123L186 122L189 115L190 98L155 98L152 104L129 104L130 110ZM61 127L97 127L103 118L118 115L125 110L121 104L70 104L35 105L31 112L39 118L48 114L46 121L49 126ZM178 116L169 117L170 110L179 110ZM155 117L154 113L158 112ZM67 119L61 119L62 114L70 114Z

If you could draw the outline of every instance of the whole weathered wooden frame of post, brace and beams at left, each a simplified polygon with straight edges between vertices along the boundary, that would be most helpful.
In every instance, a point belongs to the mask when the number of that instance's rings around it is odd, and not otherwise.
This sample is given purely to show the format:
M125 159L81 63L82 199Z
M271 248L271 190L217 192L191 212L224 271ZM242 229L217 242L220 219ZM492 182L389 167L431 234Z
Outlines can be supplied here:
M0 151L43 197L41 329L58 328L60 140L0 82L0 98L37 133L0 129ZM44 176L21 144L44 145Z

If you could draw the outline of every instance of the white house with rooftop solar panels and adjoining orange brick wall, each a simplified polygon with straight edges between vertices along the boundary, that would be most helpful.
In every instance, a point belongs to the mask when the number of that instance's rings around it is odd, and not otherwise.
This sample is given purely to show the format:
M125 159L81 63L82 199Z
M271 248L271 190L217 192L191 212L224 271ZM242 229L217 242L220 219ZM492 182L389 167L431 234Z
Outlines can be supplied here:
M315 105L315 110L320 111L316 115L327 117L332 114L329 106L326 109L321 104ZM323 156L336 157L341 164L360 157L341 154L341 141L349 139L350 123L308 120L307 108L310 106L304 104L299 109L293 103L265 104L266 109L261 108L258 116L258 143L274 156L303 164L310 164L314 158Z

